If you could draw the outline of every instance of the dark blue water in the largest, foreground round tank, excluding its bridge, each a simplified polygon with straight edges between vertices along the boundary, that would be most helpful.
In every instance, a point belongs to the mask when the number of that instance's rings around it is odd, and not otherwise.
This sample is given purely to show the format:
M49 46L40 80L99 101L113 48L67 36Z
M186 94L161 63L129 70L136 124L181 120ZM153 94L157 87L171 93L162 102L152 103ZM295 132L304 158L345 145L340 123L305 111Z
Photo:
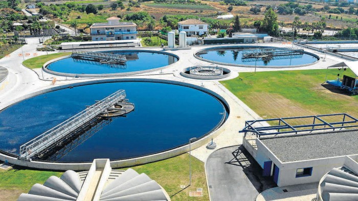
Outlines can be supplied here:
M183 85L126 81L66 86L1 110L0 149L18 154L20 145L118 90L125 90L126 99L135 104L134 111L101 120L96 132L81 135L72 143L58 143L53 154L34 159L91 162L96 158L137 158L183 146L193 137L203 138L228 117L227 106L219 98Z

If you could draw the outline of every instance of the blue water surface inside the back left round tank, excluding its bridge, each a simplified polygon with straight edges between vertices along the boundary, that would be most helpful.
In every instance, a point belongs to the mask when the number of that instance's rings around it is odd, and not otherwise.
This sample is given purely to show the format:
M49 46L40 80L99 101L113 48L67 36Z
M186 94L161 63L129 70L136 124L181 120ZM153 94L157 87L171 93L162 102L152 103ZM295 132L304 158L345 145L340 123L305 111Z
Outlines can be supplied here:
M125 55L127 62L125 65L105 64L70 57L50 63L47 68L60 73L110 74L156 69L177 61L176 57L162 53L140 51L111 51L106 53Z

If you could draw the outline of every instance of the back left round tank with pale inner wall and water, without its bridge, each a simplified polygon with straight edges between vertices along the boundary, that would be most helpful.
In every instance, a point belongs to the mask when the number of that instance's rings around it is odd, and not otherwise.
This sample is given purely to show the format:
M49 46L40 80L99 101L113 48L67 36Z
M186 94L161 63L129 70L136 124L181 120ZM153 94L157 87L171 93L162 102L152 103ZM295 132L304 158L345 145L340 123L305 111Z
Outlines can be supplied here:
M93 61L72 58L70 55L59 60L53 60L46 64L43 70L51 74L70 77L133 75L166 68L166 66L175 63L179 59L176 55L171 53L151 50L119 50L101 53L124 55L126 62Z

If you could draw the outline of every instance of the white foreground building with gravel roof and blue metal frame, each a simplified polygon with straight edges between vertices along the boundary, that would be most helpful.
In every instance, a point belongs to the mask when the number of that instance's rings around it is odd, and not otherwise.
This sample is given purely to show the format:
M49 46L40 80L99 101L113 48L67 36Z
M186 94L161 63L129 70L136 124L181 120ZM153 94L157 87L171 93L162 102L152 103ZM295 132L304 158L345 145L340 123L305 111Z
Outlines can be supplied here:
M343 120L328 122L339 117ZM294 119L313 123L287 123ZM280 123L271 125L275 121ZM272 176L279 187L319 182L332 168L342 167L347 156L358 161L358 130L351 127L356 123L347 114L247 121L243 146L261 166L262 175Z

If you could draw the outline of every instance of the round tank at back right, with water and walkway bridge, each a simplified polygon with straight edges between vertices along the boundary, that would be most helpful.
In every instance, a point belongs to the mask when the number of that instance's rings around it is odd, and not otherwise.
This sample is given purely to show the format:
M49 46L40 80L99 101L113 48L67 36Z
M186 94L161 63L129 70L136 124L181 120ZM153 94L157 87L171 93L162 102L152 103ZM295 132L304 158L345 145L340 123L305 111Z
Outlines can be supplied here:
M198 59L225 65L286 68L311 65L319 56L300 48L279 48L264 46L228 46L199 50L194 53Z

